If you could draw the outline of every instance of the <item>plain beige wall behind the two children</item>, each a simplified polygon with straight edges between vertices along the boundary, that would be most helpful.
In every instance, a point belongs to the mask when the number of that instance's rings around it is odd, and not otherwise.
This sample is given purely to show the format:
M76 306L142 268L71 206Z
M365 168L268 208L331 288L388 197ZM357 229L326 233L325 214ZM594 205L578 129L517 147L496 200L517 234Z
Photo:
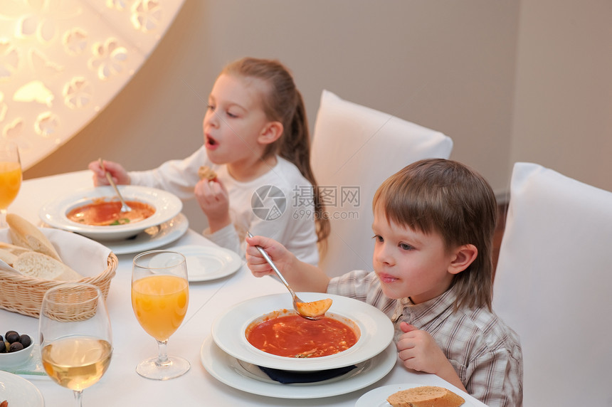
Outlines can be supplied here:
M612 174L603 160L612 6L561 1L186 0L116 99L24 176L85 169L100 156L128 169L185 157L202 142L218 71L248 55L292 69L311 125L327 89L448 134L452 158L500 193L517 159L612 190L603 175Z

